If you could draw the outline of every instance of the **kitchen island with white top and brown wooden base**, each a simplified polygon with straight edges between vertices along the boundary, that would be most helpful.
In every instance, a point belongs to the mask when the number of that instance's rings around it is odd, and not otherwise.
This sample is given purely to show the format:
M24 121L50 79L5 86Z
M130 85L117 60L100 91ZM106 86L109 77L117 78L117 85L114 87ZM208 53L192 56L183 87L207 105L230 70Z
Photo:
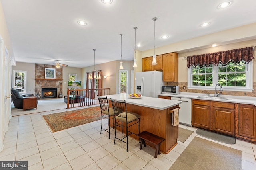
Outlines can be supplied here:
M171 110L179 107L179 104L182 103L181 101L145 96L136 99L130 98L128 94L113 94L101 97L107 97L109 99L109 107L112 107L110 98L118 101L125 100L127 111L140 115L140 132L148 131L165 139L160 145L160 151L162 153L167 154L177 144L178 126L172 125ZM121 129L118 130L121 131ZM138 134L138 126L130 127L130 131ZM139 139L134 134L131 136ZM147 143L147 145L154 147L150 143Z

